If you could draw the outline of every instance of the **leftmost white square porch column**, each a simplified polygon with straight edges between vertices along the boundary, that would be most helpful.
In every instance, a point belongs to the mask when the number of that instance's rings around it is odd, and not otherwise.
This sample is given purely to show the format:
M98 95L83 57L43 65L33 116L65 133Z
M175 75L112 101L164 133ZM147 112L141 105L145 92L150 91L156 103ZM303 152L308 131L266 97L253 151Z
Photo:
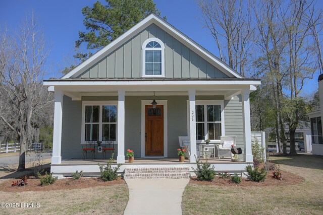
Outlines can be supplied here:
M52 139L52 157L51 164L61 164L61 146L62 146L62 116L63 116L63 92L55 90L54 106L54 128Z

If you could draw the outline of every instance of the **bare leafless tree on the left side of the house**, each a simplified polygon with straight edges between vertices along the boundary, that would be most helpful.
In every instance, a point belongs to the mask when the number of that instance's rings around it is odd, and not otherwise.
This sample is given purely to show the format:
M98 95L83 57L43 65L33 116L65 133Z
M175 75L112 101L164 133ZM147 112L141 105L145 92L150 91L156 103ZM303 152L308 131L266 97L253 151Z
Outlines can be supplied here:
M25 169L25 154L33 139L34 113L47 107L50 94L42 86L46 74L43 33L34 18L26 18L17 34L0 31L0 121L20 141L18 170Z

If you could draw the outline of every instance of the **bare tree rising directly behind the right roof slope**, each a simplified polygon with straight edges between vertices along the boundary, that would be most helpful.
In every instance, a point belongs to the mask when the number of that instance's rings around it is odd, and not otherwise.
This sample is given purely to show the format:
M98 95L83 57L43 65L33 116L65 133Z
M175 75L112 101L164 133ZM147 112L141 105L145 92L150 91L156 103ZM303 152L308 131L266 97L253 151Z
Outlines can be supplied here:
M221 60L245 76L254 35L248 4L243 0L199 0L198 5Z

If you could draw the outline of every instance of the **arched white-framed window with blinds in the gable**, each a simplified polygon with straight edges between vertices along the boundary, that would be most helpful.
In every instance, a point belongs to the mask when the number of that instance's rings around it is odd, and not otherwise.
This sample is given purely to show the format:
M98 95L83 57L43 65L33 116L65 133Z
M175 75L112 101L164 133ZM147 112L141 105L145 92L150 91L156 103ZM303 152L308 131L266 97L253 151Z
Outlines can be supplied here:
M165 77L165 45L157 38L142 44L142 77Z

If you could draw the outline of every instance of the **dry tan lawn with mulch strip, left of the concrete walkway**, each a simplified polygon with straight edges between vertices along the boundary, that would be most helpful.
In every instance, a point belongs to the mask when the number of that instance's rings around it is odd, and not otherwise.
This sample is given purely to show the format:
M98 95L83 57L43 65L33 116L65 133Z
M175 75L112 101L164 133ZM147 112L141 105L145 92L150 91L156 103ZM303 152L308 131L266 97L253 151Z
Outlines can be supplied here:
M90 185L74 183L72 179L62 179L55 185L35 187L30 186L2 188L12 190L0 191L1 202L10 203L34 203L33 207L0 208L1 214L123 214L129 200L127 184L123 182L97 182L92 179L80 179L89 181ZM121 180L121 179L120 179ZM78 181L75 181L78 182ZM8 187L10 181L3 180L0 186ZM62 184L63 183L63 184ZM104 183L104 185L101 185ZM105 184L106 183L106 184ZM111 185L110 185L111 184ZM97 186L98 185L98 186ZM28 187L29 186L29 187ZM33 188L32 188L33 187ZM87 187L87 188L78 188ZM69 189L72 188L72 189ZM19 191L21 190L21 191ZM43 190L43 191L23 191ZM37 207L39 203L39 208Z

